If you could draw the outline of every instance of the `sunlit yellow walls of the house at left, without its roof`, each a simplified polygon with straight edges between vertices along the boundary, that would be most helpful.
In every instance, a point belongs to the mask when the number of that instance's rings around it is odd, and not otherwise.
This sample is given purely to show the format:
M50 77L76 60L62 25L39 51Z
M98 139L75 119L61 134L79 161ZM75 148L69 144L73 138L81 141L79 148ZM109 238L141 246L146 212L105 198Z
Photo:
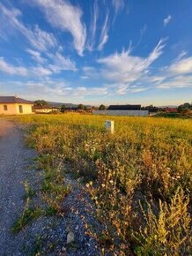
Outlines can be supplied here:
M7 105L7 110L4 110L4 105ZM23 113L19 113L19 105L23 106ZM33 104L23 104L23 103L1 103L0 104L0 115L25 115L33 114L32 112Z

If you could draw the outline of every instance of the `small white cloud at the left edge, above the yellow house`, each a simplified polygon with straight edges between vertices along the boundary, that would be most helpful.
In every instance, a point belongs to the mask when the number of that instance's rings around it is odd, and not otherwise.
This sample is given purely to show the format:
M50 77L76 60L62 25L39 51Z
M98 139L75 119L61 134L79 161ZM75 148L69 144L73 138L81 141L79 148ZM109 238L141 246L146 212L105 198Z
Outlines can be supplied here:
M28 74L26 67L13 66L12 64L8 64L4 60L4 57L0 57L0 72L5 72L10 75L19 75L19 76L26 76Z

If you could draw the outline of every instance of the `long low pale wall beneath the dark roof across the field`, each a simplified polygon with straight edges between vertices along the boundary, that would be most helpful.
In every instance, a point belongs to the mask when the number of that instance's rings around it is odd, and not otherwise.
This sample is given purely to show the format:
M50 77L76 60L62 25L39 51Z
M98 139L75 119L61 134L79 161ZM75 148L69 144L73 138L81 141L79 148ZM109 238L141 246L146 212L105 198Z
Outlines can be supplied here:
M93 115L146 117L148 110L93 110Z

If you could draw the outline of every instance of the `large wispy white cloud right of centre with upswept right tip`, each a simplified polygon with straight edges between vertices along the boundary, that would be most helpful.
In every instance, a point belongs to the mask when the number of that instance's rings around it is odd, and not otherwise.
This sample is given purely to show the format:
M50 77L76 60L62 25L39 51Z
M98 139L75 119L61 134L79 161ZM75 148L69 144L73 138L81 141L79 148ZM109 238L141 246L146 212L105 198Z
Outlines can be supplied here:
M150 67L151 64L161 56L165 47L165 40L160 40L149 56L131 56L131 49L122 50L98 59L102 64L100 74L103 79L109 81L107 87L114 94L130 94L143 92L152 84ZM154 77L152 78L154 79ZM162 81L156 78L156 83ZM154 83L154 81L153 81ZM148 86L146 86L148 85Z

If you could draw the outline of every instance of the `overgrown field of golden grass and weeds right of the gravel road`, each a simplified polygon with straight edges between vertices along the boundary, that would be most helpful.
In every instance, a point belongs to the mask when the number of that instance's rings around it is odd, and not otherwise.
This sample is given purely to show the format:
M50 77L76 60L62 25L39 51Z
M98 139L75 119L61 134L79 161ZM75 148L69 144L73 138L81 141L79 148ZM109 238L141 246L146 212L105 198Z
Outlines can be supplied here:
M61 164L72 177L84 177L96 217L106 225L101 234L89 230L104 254L191 255L192 120L78 114L14 118L32 124L27 140L51 177L45 192L54 192L49 210L59 212L66 193L63 179L57 183L53 174ZM106 119L114 120L114 134L105 131Z

